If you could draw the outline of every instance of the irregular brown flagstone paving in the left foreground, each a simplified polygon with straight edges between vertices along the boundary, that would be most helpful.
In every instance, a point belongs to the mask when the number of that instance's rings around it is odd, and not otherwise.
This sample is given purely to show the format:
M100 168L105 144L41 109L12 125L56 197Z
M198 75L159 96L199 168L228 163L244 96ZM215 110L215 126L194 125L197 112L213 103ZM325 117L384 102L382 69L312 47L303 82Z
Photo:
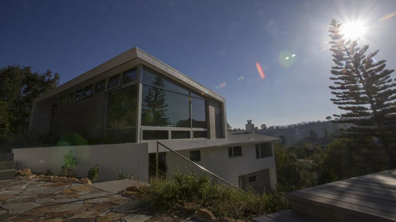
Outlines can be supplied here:
M139 197L113 194L88 185L0 181L0 221L161 221L161 216L149 212L148 205Z

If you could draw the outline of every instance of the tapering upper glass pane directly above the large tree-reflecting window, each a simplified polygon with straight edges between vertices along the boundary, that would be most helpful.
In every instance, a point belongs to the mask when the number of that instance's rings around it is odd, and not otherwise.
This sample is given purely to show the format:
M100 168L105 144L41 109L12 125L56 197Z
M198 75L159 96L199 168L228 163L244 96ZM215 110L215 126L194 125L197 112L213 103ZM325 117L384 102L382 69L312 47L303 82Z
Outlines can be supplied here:
M146 67L143 68L143 82L189 95L189 91L187 89L170 82L161 74L158 74L155 71L152 71Z

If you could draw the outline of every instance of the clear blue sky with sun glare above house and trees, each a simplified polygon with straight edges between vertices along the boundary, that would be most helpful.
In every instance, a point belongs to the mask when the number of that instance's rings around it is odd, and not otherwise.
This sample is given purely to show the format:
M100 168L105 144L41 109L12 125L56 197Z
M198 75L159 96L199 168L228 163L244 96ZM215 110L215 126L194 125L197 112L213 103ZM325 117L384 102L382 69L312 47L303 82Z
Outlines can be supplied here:
M225 97L232 127L340 113L328 88L332 18L364 21L361 42L396 68L396 16L381 20L396 12L394 0L12 0L0 8L0 67L50 69L64 83L137 46Z

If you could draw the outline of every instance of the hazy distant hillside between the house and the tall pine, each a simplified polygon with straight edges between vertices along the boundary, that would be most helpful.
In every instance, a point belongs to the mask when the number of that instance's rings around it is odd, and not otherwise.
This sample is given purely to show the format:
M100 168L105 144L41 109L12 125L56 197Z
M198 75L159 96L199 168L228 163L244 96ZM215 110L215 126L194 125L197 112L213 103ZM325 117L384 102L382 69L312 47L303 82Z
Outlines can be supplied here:
M284 136L288 144L297 144L301 141L309 141L311 130L316 134L319 144L326 144L340 133L340 128L347 128L348 124L335 124L331 121L313 121L288 126L271 126L266 129L256 128L255 132L272 137ZM325 135L327 131L327 135ZM327 138L325 138L327 136Z

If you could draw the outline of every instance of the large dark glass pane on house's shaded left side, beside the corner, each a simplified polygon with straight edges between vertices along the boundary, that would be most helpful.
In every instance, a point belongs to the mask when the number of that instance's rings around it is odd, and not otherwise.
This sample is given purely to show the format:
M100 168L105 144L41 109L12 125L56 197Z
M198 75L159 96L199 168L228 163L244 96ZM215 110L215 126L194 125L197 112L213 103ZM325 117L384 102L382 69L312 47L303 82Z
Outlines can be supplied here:
M108 94L107 128L136 126L137 86Z

